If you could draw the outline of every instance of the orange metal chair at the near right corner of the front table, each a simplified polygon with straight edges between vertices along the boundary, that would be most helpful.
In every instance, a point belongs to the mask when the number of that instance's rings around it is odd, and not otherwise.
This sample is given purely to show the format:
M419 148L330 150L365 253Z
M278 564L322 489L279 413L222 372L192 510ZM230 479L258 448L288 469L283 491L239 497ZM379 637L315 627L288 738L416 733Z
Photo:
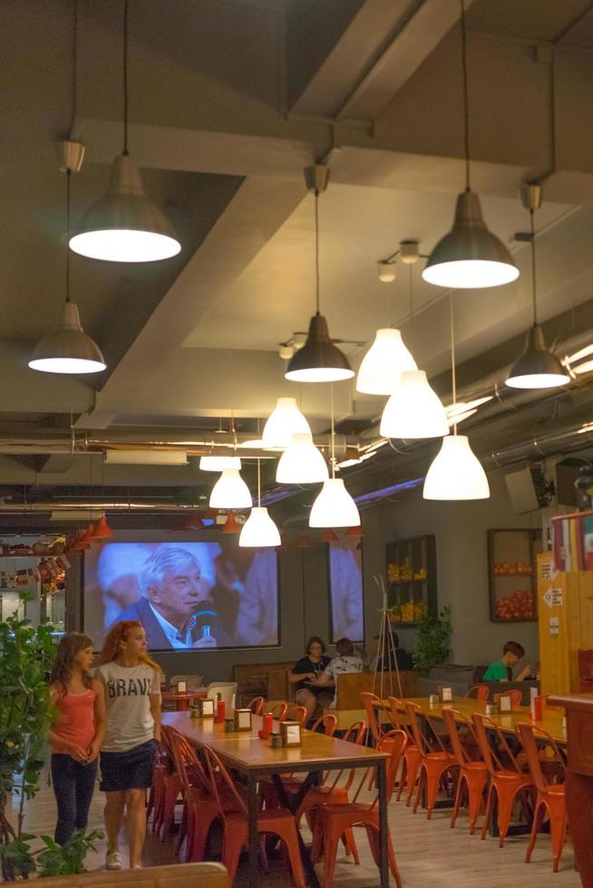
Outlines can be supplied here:
M395 777L399 767L403 748L406 744L406 736L403 730L394 730L390 734L390 753L387 765L387 801L391 799L394 791ZM323 845L324 854L324 888L331 888L334 880L335 858L340 837L346 830L353 826L364 826L371 852L376 864L379 863L379 805L378 796L372 802L358 802L358 796L367 781L364 774L356 790L354 801L348 805L324 805L318 809L316 828L313 834L311 848L311 860L313 863L319 860ZM402 888L402 880L395 861L394 845L391 835L387 832L389 855L389 868L394 876L397 888Z

